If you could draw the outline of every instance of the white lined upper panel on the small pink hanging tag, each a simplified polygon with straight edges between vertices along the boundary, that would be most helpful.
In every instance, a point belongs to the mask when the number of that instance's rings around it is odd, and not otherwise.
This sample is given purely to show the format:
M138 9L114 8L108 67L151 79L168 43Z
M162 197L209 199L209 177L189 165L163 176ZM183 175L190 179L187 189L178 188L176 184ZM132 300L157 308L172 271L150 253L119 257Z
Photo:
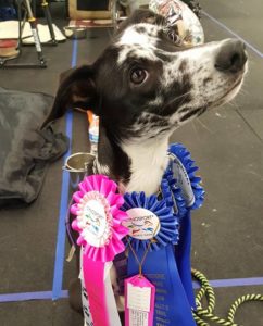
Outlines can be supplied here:
M149 312L151 306L151 288L135 287L128 284L127 308L132 310Z

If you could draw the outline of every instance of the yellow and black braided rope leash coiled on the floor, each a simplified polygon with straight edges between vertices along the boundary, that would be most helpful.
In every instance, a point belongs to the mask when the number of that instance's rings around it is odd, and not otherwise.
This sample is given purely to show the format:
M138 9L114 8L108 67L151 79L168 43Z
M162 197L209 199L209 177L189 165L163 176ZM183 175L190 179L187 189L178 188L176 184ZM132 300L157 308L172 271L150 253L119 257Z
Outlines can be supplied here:
M201 285L200 290L196 294L196 304L197 310L192 312L193 318L197 325L200 326L210 326L209 322L214 322L224 326L241 326L241 324L236 324L234 322L235 314L237 309L243 303L248 301L263 301L262 294L246 294L238 298L230 306L227 319L217 317L214 315L213 311L215 308L215 296L214 290L209 284L206 277L199 271L192 269L191 274L193 278L196 278ZM208 306L204 309L202 306L202 300L206 299Z

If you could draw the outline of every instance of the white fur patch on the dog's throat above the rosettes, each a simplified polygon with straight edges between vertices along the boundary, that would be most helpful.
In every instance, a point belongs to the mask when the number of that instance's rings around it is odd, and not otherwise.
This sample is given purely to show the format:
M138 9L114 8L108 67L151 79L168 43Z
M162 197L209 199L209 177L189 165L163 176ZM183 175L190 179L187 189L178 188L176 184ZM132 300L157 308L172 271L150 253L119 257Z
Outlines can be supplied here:
M168 138L126 142L122 149L129 156L132 177L126 191L145 191L147 196L159 190L164 170L167 166Z

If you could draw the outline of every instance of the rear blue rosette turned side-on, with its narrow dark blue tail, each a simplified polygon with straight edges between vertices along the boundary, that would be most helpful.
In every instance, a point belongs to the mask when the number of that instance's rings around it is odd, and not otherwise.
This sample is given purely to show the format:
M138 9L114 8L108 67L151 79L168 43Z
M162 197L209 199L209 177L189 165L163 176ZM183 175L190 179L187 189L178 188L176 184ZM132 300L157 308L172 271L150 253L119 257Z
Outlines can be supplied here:
M179 239L175 246L175 259L178 273L189 300L196 309L191 280L191 210L202 205L204 190L201 178L196 176L198 167L191 160L190 152L180 143L171 145L168 149L170 163L163 175L162 184L168 189L163 191L164 198L173 196L179 223ZM176 240L176 239L175 239Z

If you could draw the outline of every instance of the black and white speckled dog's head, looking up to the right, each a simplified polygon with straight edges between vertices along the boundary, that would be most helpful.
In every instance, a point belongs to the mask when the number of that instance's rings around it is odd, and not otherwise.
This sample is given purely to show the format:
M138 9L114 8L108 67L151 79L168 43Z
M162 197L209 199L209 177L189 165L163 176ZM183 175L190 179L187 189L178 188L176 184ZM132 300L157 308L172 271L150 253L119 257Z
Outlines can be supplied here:
M243 43L176 46L162 18L136 12L92 66L61 84L50 118L66 106L92 109L120 138L154 138L231 100L247 68Z

